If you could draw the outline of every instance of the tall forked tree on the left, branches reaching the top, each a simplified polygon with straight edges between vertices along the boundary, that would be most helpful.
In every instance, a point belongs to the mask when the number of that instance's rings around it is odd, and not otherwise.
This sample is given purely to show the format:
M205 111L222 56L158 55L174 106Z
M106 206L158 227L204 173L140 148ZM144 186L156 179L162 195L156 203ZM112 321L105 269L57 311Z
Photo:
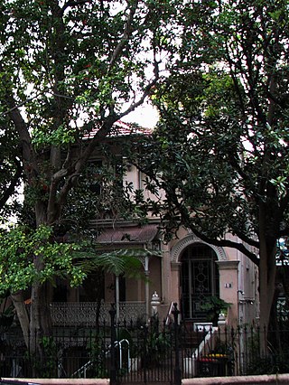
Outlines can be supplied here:
M52 228L47 241L54 242L70 192L98 145L144 103L160 70L174 61L172 25L181 7L154 0L1 3L0 111L9 123L3 129L15 136L11 151L18 151L36 234ZM47 271L46 251L30 249L30 317L22 290L13 293L23 333L36 335L32 347L50 333L48 277L37 278Z

